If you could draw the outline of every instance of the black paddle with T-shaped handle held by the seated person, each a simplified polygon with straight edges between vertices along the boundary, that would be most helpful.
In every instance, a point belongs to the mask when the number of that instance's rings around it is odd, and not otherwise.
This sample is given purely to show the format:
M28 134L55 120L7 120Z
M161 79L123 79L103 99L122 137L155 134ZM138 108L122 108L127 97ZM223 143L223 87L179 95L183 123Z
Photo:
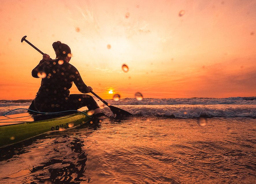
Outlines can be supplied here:
M32 43L30 43L29 41L26 40L27 36L22 37L21 42L25 41L27 42L31 47L33 47L34 49L36 49L38 52L40 52L42 55L44 55L44 53L42 51L40 51L36 46L34 46ZM91 91L91 93L96 96L98 99L100 99L104 104L106 104L110 110L113 112L113 114L116 114L116 116L120 117L120 116L132 116L131 113L117 108L115 106L111 106L110 104L108 104L105 100L103 100L101 97L99 97L96 93L94 93L93 91Z

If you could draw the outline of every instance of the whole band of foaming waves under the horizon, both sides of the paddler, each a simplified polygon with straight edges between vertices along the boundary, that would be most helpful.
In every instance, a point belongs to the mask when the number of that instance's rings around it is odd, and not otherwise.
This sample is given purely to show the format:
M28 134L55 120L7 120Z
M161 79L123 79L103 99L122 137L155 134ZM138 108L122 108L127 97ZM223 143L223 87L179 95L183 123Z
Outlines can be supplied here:
M245 99L247 98L247 99ZM116 102L107 100L111 105L127 110L138 116L166 116L173 118L196 118L199 116L207 117L256 117L255 97L234 97L234 98L179 98L179 99L153 99L146 98L142 101L125 98ZM97 101L98 104L101 101ZM0 100L0 115L16 109L28 108L29 101L17 103L14 101ZM14 105L15 104L15 105ZM16 105L18 104L18 105ZM172 104L172 105L170 105ZM8 106L9 105L9 106ZM83 108L85 110L86 108ZM16 110L10 114L27 112L27 110ZM107 116L112 116L108 107L103 109Z

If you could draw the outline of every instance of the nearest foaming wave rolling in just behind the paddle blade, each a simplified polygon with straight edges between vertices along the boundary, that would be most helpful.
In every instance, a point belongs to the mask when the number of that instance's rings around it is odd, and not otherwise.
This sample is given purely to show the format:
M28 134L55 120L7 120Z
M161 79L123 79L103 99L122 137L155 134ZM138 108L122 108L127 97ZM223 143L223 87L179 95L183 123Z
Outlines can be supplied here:
M171 118L256 117L256 105L125 105L116 106L138 116L166 116ZM109 108L103 112L112 116Z

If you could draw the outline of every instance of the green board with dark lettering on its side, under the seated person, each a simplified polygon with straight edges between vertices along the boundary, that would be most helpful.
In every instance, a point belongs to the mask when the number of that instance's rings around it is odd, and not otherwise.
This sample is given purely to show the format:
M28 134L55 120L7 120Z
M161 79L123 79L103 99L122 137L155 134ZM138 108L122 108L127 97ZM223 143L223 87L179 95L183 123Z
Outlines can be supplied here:
M63 131L90 119L87 111L68 115L22 113L0 116L0 148L49 131Z

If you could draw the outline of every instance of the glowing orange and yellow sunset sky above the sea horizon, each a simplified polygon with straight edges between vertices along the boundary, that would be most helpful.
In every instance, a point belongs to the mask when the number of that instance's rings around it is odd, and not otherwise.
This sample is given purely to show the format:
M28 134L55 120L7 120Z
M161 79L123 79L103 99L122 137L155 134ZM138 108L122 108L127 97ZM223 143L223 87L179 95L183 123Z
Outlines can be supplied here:
M0 3L0 99L33 99L40 86L31 70L42 55L24 35L52 58L54 41L68 44L103 98L256 96L256 1Z

